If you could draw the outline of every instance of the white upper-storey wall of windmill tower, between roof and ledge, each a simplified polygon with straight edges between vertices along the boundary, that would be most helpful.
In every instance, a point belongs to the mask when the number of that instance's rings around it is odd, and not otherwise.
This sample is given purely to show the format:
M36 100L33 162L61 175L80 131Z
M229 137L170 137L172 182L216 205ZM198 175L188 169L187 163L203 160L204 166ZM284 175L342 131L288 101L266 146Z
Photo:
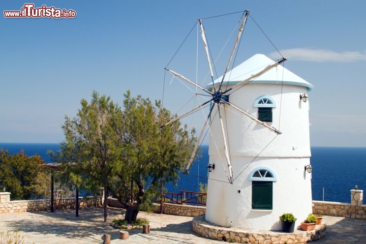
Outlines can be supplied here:
M226 113L223 113L223 121L227 129L230 154L257 156L264 149L261 157L310 157L309 102L300 102L299 99L300 94L304 93L307 93L307 88L301 86L250 84L242 88L240 93L231 94L230 102L255 117L257 117L258 108L253 107L254 101L263 95L270 96L275 100L277 107L272 109L273 123L268 124L280 130L282 134L277 136L276 133L256 124L246 115L225 105L227 109L225 109ZM216 109L212 114L216 114ZM218 118L219 115L216 114L210 126L212 131L209 142L210 156L217 155L218 151L224 148ZM267 146L271 140L273 142Z

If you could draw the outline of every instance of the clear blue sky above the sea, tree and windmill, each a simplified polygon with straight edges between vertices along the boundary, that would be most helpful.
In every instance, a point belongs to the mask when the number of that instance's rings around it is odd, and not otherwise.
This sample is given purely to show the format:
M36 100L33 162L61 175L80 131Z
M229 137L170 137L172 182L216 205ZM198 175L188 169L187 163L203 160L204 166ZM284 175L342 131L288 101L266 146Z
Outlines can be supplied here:
M80 100L93 90L119 104L128 89L133 96L162 99L164 67L196 19L249 9L288 58L285 67L315 86L309 93L311 145L366 146L365 1L44 0L31 3L73 9L77 17L4 17L3 11L25 3L0 3L1 142L62 141L65 115L75 116ZM204 20L214 53L238 17ZM190 78L196 72L195 38L190 36L171 64ZM240 45L236 64L276 51L251 18ZM204 57L200 60L198 68L206 72ZM225 63L226 57L218 60L218 76ZM170 78L164 104L179 113L192 94Z

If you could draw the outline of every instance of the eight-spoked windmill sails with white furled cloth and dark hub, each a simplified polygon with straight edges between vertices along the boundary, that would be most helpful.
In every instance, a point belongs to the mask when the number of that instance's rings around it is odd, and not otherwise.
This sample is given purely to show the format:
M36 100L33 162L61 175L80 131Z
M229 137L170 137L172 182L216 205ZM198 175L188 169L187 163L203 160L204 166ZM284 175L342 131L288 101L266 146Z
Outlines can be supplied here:
M209 69L209 74L211 76L211 81L212 81L212 89L209 90L201 85L199 85L198 83L190 80L189 78L185 77L184 75L182 74L179 74L173 70L170 70L168 68L165 68L166 71L168 71L169 73L171 73L174 77L177 77L181 80L184 80L186 82L188 82L189 84L191 85L194 85L195 87L201 89L203 92L206 93L206 95L209 97L209 99L207 101L205 101L204 103L196 106L195 108L175 117L174 119L168 121L167 123L165 123L164 125L161 126L161 128L165 127L165 126L169 126L171 125L172 123L174 123L175 121L189 115L189 114L192 114L194 113L195 111L199 110L199 109L202 109L205 105L207 104L210 104L210 109L209 109L209 112L208 112L208 116L205 120L205 123L202 127L202 130L201 130L201 133L199 134L198 136L198 139L197 139L197 142L194 146L194 149L193 149L193 152L192 152L192 155L189 159L189 162L186 166L186 169L185 169L185 173L188 173L192 163L193 163L193 160L195 159L196 157L196 154L197 154L197 149L198 149L198 146L201 142L201 139L202 139L202 136L204 134L204 131L206 129L207 126L210 125L210 121L211 121L211 114L212 114L212 111L214 110L214 108L217 109L218 111L218 114L219 114L219 120L220 120L220 125L221 125L221 136L222 136L222 140L223 140L223 144L224 144L224 154L225 154L225 160L226 160L226 163L227 163L227 169L228 169L228 172L229 172L229 175L228 175L228 181L230 184L233 184L233 181L234 181L234 177L233 177L233 172L232 172L232 165L231 165L231 162L230 162L230 157L229 157L229 149L228 149L228 143L227 143L227 136L226 136L226 132L225 132L225 129L224 129L224 123L223 123L223 117L222 117L222 112L223 110L227 109L227 107L231 107L235 110L237 110L239 113L242 113L244 115L246 115L247 117L249 117L250 119L252 119L253 121L255 121L255 123L261 125L262 127L265 127L267 129L269 129L270 131L272 131L273 133L276 133L276 134L281 134L281 132L268 125L267 123L259 120L256 116L252 115L251 113L241 109L239 106L235 105L234 103L232 103L230 101L230 94L235 92L235 90L245 86L246 84L248 84L249 82L251 82L253 79L263 75L264 73L266 73L267 71L269 71L270 69L272 68L275 68L277 66L279 66L280 64L282 64L286 58L281 58L279 59L277 62L273 63L273 64L270 64L268 66L266 66L264 69L260 70L259 72L253 74L251 77L247 78L247 79L244 79L240 82L238 82L236 85L230 87L230 88L226 88L226 89L223 89L223 84L224 84L224 79L225 79L225 75L227 74L228 72L228 69L230 67L230 64L231 64L231 61L232 61L232 58L234 56L234 53L237 49L237 46L238 46L238 43L240 41L240 38L241 38L241 34L243 32L243 29L246 25L246 22L247 22L247 19L248 19L248 16L249 16L249 10L246 10L243 15L242 15L242 21L241 21L241 24L240 24L240 27L239 27L239 30L238 30L238 33L236 35L236 39L234 41L234 44L233 44L233 47L232 47L232 50L231 50L231 53L230 53L230 56L229 56L229 60L227 62L227 65L224 69L224 73L222 75L222 79L220 82L215 82L214 80L214 73L212 71L212 65L211 65L211 57L209 55L209 50L208 50L208 45L207 45L207 39L206 39L206 35L205 35L205 29L203 27L203 20L202 19L198 19L198 24L199 24L199 27L200 27L200 32L201 32L201 39L202 39L202 42L203 42L203 47L204 47L204 51L205 51L205 54L206 54L206 58L207 58L207 64L208 64L208 69Z

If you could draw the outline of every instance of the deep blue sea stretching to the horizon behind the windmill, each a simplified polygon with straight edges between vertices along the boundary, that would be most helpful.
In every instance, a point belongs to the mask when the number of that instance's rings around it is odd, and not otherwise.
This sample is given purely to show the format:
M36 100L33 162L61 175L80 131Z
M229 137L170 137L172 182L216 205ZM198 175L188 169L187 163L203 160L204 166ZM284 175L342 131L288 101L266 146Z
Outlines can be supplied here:
M10 154L24 150L25 155L40 155L46 163L52 163L47 150L59 149L57 143L0 143L0 148ZM165 185L168 192L199 191L199 185L207 183L208 146L201 146L202 157L195 161L189 174L180 174L177 185ZM313 200L350 202L350 190L357 185L366 189L366 147L311 147L313 167ZM366 192L365 192L366 193Z

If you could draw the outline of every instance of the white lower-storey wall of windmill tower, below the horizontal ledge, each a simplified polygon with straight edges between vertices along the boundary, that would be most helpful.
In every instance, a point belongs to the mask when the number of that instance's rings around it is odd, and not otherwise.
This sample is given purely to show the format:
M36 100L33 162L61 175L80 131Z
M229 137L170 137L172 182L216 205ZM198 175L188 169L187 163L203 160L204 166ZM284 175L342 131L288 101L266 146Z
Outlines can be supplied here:
M206 220L212 223L255 230L281 230L279 216L292 212L296 226L312 212L311 174L304 171L309 158L232 157L234 184L228 182L223 160L210 157L215 163L208 179ZM272 210L252 209L252 181L248 174L257 167L270 168L277 177L273 182ZM240 190L240 193L238 193Z

